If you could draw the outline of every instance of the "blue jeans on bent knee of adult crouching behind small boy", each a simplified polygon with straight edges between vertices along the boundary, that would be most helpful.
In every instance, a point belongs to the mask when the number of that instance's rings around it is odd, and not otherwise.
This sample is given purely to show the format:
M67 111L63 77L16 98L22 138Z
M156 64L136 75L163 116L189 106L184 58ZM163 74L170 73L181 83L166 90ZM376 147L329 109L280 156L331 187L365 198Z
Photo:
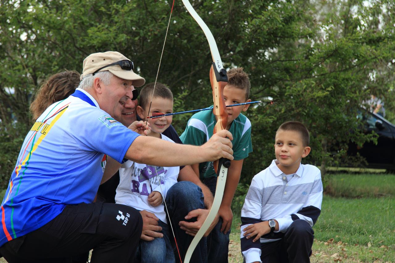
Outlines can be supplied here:
M186 251L194 237L185 233L179 226L180 221L196 222L196 218L185 220L185 216L192 210L204 209L203 193L199 186L192 182L182 181L173 185L166 195L167 209L169 210L169 217L173 225L174 234L177 239L178 248L181 254L182 261L184 261ZM173 250L175 259L179 262L179 255L173 239ZM196 246L192 254L190 262L206 263L207 262L207 246L206 238L203 237L198 246ZM219 262L219 261L218 261Z

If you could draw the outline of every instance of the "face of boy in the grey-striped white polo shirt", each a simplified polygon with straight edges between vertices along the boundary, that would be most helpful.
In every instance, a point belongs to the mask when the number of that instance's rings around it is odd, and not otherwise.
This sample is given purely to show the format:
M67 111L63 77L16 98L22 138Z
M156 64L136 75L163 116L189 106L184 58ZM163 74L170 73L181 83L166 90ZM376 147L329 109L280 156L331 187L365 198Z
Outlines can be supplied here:
M310 153L310 147L303 145L298 131L292 130L278 130L275 142L275 154L279 162L277 167L286 175L295 173L302 158Z

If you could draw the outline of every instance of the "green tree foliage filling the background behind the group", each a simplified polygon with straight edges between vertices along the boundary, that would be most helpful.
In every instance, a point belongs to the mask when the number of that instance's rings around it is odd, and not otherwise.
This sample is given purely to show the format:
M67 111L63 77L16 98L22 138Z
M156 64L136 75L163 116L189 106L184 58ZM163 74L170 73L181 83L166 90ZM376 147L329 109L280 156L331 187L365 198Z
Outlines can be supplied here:
M309 163L333 165L358 132L359 105L374 92L393 97L394 10L391 0L190 1L207 23L226 68L250 74L254 152L243 180L274 158L276 128L287 120L311 132ZM155 80L172 1L1 1L1 177L8 180L31 126L28 108L42 81L66 68L82 71L90 53L119 51L137 73ZM175 2L158 81L175 95L175 110L212 104L211 54L198 24ZM270 103L272 101L272 103ZM395 100L392 100L395 101ZM395 112L395 110L393 110ZM173 124L182 132L190 115ZM395 119L395 116L393 116ZM6 157L7 156L7 157ZM4 184L4 183L3 183Z

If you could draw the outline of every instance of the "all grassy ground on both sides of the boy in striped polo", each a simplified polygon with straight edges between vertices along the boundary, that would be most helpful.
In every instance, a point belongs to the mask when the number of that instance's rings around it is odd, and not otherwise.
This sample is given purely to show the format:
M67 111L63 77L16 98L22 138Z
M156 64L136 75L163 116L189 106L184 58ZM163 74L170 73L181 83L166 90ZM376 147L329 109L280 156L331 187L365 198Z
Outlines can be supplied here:
M324 195L322 212L314 225L311 262L395 262L395 175L328 177L326 192L338 197ZM239 236L244 198L239 195L232 203L229 262L242 260Z

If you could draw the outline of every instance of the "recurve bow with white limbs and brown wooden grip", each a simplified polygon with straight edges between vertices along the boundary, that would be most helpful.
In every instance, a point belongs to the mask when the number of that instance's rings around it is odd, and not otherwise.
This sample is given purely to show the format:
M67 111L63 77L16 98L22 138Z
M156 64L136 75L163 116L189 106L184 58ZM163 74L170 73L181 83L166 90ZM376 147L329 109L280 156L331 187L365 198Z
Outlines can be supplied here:
M190 2L188 0L182 0L182 3L184 3L184 6L188 10L188 12L199 24L207 38L207 41L209 42L211 56L213 58L213 65L210 69L210 82L211 87L213 88L214 102L213 113L217 119L213 133L216 133L218 131L225 130L228 124L228 113L226 111L226 106L224 102L224 87L228 83L228 77L226 75L226 70L222 65L221 57L219 55L218 47L216 45L213 34L211 33L207 25L203 22L203 20L199 17L198 13L196 13ZM184 263L189 263L192 257L192 253L194 252L200 239L206 233L207 229L209 229L211 223L216 217L216 214L218 213L218 210L222 203L222 197L224 195L226 176L228 174L229 165L230 161L224 158L221 158L219 161L217 160L214 162L214 170L217 173L217 186L215 190L213 205L211 206L206 220L203 222L203 225L200 227L198 233L196 233L194 239L188 247ZM219 169L217 169L217 167L219 167Z

